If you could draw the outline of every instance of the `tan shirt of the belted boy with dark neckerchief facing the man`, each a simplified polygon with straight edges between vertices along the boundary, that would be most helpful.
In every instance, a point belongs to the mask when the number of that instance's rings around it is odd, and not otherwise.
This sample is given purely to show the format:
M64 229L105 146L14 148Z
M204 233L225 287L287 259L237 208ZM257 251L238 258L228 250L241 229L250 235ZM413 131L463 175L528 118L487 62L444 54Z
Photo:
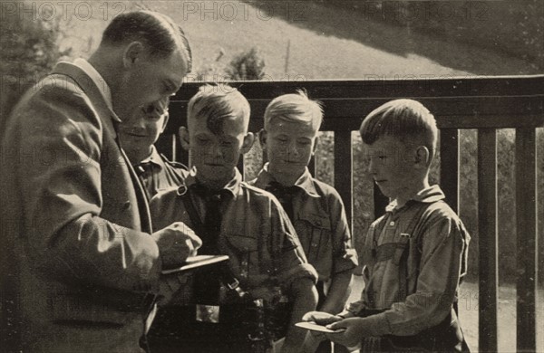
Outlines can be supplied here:
M190 189L197 183L192 169L185 180ZM289 287L301 278L316 281L316 270L306 262L306 256L296 238L287 215L271 194L242 182L236 175L224 187L231 196L222 203L219 251L229 256L229 265L244 290L252 291L278 284ZM158 227L180 221L192 227L178 189L170 189L151 200L151 215ZM191 193L200 219L205 219L205 203Z

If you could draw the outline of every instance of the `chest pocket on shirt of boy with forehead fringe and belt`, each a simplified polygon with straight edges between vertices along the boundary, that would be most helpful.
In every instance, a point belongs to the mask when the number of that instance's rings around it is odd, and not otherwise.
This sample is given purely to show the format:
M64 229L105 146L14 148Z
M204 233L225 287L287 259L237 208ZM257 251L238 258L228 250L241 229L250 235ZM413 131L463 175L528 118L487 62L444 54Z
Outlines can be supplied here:
M258 240L244 235L228 234L230 267L240 281L248 281L251 273L259 271Z

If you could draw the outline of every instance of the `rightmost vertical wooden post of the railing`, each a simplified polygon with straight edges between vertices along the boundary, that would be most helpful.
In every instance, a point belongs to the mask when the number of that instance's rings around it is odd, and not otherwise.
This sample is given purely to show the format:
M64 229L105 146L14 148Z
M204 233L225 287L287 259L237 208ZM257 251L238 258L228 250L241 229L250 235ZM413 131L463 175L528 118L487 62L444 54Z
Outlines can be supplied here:
M536 133L516 129L517 348L537 350L537 169Z

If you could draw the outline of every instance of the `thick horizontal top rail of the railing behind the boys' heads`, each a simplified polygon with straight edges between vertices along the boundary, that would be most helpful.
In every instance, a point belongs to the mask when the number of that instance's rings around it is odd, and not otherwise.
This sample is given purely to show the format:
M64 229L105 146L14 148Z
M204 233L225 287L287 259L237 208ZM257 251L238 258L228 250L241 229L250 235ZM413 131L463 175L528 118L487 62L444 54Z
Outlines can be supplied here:
M203 82L189 82L173 97L170 113L183 122L187 101ZM359 129L361 120L387 100L421 100L441 129L534 128L544 125L544 75L443 80L234 81L251 104L250 130L262 129L267 103L278 95L304 88L323 101L326 131ZM214 90L228 90L219 83ZM176 133L170 124L167 133Z

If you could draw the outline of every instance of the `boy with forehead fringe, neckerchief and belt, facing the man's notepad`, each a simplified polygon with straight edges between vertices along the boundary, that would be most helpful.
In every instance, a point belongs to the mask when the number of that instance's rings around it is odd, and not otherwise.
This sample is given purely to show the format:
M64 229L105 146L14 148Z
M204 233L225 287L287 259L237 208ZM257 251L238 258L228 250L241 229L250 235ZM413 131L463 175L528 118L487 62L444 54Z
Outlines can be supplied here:
M307 310L316 308L316 270L306 262L293 226L276 198L241 180L238 157L251 148L254 138L248 132L248 120L248 100L239 91L225 85L201 87L189 100L188 127L180 128L181 144L189 150L193 168L184 186L152 199L151 214L158 226L175 219L198 229L201 221L199 254L228 255L230 271L252 300L275 302L287 294L294 310L283 352L298 352L306 331L294 324ZM191 303L199 303L198 308L211 308L217 306L213 297L219 295L221 323L222 305L230 303L228 296L221 294L217 279L200 277L199 273L194 276L188 297L192 297ZM227 329L245 324L235 322ZM252 349L229 346L223 337L209 335L206 342L180 348L199 352Z

